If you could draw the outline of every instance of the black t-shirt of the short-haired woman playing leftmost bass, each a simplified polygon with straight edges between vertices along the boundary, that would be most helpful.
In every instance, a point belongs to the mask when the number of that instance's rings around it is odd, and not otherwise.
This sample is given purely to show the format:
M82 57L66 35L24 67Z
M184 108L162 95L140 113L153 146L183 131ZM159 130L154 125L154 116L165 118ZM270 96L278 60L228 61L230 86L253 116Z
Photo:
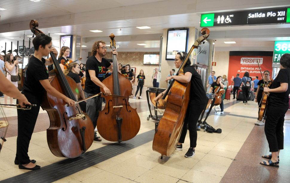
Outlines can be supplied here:
M41 61L36 57L31 57L26 70L25 82L23 91L35 95L39 100L43 97L45 92L44 87L39 80L48 79L48 70L45 66L45 59Z

